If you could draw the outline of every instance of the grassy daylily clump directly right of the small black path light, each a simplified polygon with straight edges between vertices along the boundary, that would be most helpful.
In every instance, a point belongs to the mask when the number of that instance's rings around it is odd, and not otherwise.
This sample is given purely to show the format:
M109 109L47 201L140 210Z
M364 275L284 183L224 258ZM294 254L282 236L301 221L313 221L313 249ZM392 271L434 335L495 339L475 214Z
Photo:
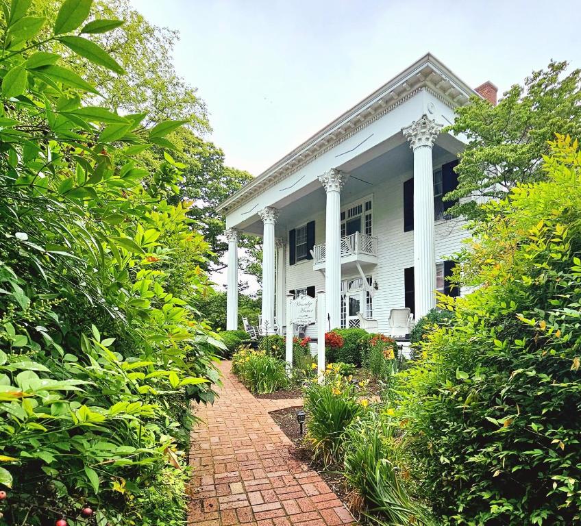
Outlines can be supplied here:
M327 368L321 384L315 378L305 389L306 440L314 458L327 466L341 462L345 429L362 410L359 394L358 386L334 368Z

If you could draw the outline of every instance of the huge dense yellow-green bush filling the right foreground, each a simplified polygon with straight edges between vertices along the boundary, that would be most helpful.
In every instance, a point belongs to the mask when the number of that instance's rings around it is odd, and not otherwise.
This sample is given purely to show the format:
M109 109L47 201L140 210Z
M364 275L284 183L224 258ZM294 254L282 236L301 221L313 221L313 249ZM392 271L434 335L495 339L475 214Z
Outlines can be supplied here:
M558 136L547 181L483 206L408 375L406 451L445 525L581 521L581 153Z

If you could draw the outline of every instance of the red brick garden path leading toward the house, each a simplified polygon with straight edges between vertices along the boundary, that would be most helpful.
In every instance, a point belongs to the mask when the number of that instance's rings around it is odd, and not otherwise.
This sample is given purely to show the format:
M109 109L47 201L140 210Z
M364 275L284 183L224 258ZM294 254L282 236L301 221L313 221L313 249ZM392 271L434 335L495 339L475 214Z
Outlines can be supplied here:
M354 519L319 475L291 455L292 442L269 411L294 400L256 399L220 365L223 387L192 431L193 501L199 526L343 526Z

